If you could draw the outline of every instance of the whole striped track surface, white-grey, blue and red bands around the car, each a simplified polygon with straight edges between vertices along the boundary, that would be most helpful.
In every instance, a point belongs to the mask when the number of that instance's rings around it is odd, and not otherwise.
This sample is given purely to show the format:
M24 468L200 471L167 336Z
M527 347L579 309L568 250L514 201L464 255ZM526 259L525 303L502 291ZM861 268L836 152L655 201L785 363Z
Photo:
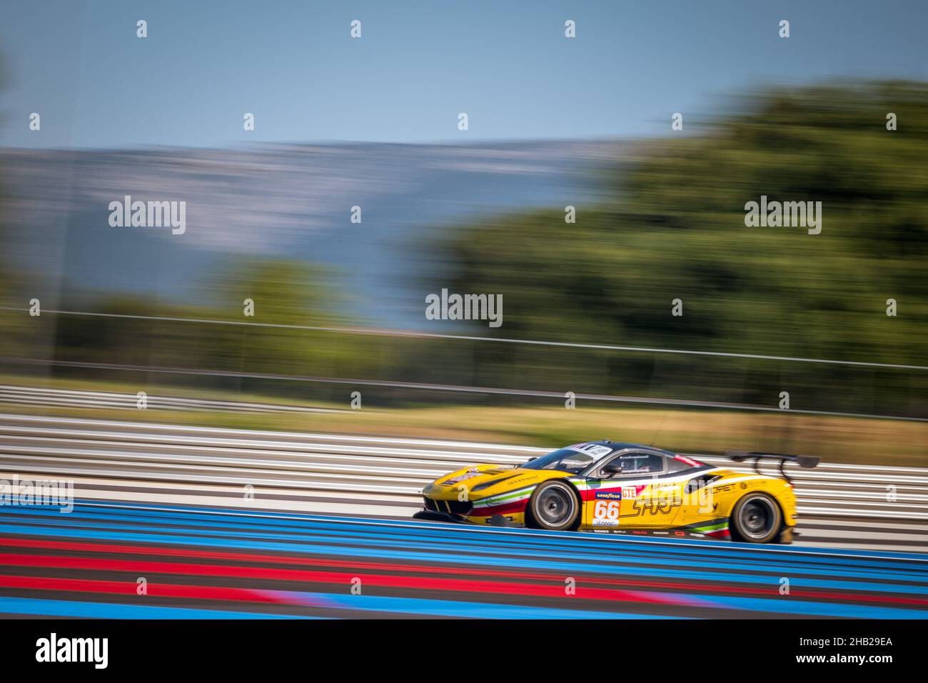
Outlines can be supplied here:
M541 451L0 415L0 479L78 496L0 506L0 615L928 616L920 469L797 471L788 546L409 519L437 474Z

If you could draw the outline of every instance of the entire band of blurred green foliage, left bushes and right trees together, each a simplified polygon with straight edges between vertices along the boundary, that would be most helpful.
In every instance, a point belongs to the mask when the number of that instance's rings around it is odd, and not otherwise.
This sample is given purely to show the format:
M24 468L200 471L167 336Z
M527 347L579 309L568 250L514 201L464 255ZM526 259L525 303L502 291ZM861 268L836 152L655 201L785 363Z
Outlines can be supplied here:
M636 143L630 164L602 170L601 199L578 205L575 224L565 223L558 206L417 232L409 248L430 267L410 272L409 280L423 312L425 295L446 287L503 296L501 328L473 322L464 334L926 364L928 85L769 88L732 100L728 111L698 127L688 121L685 135ZM886 129L888 112L898 117L896 131ZM745 227L744 204L762 194L822 202L821 233ZM0 237L9 239L10 226L3 230ZM5 305L22 309L29 275L14 275L15 268L3 263L0 286ZM191 296L196 305L109 293L92 309L316 327L361 323L345 312L339 273L298 259L240 259L203 288ZM253 318L242 316L245 298L255 301ZM676 298L682 317L671 315ZM889 298L898 302L896 317L886 315ZM7 311L2 321L6 358L771 408L785 390L792 407L805 410L928 413L924 371L51 313ZM234 376L171 381L345 402L348 394L343 385ZM366 401L511 402L387 387L368 387Z

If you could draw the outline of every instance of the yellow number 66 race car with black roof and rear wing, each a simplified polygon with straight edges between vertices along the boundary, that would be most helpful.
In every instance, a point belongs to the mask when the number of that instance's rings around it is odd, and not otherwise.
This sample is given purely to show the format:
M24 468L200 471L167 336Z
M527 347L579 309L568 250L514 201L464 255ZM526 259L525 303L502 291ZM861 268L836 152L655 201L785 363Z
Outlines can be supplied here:
M726 453L754 472L705 465L634 443L587 441L517 466L476 465L435 479L414 517L550 531L651 533L790 543L796 497L786 463L818 458ZM780 476L761 474L780 461Z

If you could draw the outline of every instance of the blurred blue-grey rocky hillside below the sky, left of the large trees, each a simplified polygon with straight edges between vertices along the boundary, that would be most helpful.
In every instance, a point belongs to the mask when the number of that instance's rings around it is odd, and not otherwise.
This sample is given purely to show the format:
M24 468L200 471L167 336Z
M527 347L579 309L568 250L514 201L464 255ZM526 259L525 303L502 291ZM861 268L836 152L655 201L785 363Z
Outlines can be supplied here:
M57 308L117 292L208 303L198 285L240 256L292 257L342 273L342 301L381 323L419 322L412 227L589 201L618 142L255 145L238 150L5 150L7 256L30 296ZM118 229L112 201L187 202L187 231ZM352 206L362 222L350 221Z

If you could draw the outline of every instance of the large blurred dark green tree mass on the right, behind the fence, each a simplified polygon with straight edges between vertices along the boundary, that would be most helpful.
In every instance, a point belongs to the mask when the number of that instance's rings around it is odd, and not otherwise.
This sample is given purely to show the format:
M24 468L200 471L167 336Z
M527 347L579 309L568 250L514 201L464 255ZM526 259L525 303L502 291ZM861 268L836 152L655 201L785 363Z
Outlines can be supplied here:
M559 208L446 234L432 287L503 294L509 337L925 364L928 88L780 88L732 106L640 145L574 225ZM822 202L821 233L745 227L761 195ZM549 348L477 365L482 381L763 405L789 390L793 408L860 413L924 416L928 389L909 370Z

